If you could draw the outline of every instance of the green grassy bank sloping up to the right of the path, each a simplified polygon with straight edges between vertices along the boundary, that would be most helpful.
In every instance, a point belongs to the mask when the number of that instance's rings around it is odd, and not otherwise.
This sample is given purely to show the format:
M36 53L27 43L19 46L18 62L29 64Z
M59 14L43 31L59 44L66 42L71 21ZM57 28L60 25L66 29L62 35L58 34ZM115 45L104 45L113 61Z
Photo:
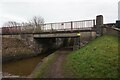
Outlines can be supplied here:
M118 37L103 35L70 53L63 71L65 77L118 78Z

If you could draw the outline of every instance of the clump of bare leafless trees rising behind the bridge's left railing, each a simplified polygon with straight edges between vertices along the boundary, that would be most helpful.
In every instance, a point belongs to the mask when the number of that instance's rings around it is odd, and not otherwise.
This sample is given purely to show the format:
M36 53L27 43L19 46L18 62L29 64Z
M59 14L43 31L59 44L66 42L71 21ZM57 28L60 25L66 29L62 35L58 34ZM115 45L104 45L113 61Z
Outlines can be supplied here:
M8 21L4 23L3 27L13 27L14 29L19 28L24 32L40 32L43 24L44 18L42 18L41 16L34 16L28 22L17 23L15 21Z

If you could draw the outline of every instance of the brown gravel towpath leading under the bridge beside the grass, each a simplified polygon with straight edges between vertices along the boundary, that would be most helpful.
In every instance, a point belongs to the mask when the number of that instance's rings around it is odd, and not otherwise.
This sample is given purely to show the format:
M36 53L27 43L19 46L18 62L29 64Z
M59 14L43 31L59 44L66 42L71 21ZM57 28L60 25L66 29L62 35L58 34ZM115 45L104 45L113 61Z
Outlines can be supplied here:
M51 66L51 70L49 71L49 74L48 74L49 78L64 78L61 64L65 60L66 55L70 52L71 50L67 48L60 49L57 52L58 56Z

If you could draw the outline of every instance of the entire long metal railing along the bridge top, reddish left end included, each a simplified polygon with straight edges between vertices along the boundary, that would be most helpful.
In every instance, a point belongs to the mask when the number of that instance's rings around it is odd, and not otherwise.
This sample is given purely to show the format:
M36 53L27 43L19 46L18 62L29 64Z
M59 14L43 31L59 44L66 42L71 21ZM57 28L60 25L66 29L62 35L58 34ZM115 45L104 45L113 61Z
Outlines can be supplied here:
M70 21L59 23L41 24L39 27L35 26L15 26L3 27L3 34L20 34L20 33L41 33L41 32L55 32L55 31L73 31L73 30L90 30L95 26L95 20Z

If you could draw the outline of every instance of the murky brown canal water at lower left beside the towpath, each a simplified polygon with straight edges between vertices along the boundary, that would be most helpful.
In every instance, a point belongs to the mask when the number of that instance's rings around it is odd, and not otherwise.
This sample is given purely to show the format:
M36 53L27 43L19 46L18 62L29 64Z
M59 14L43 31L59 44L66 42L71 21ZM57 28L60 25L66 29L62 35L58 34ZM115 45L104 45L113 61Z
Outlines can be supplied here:
M48 55L49 54L44 53L36 57L4 63L2 64L2 71L3 73L9 73L11 75L28 76L37 64Z

